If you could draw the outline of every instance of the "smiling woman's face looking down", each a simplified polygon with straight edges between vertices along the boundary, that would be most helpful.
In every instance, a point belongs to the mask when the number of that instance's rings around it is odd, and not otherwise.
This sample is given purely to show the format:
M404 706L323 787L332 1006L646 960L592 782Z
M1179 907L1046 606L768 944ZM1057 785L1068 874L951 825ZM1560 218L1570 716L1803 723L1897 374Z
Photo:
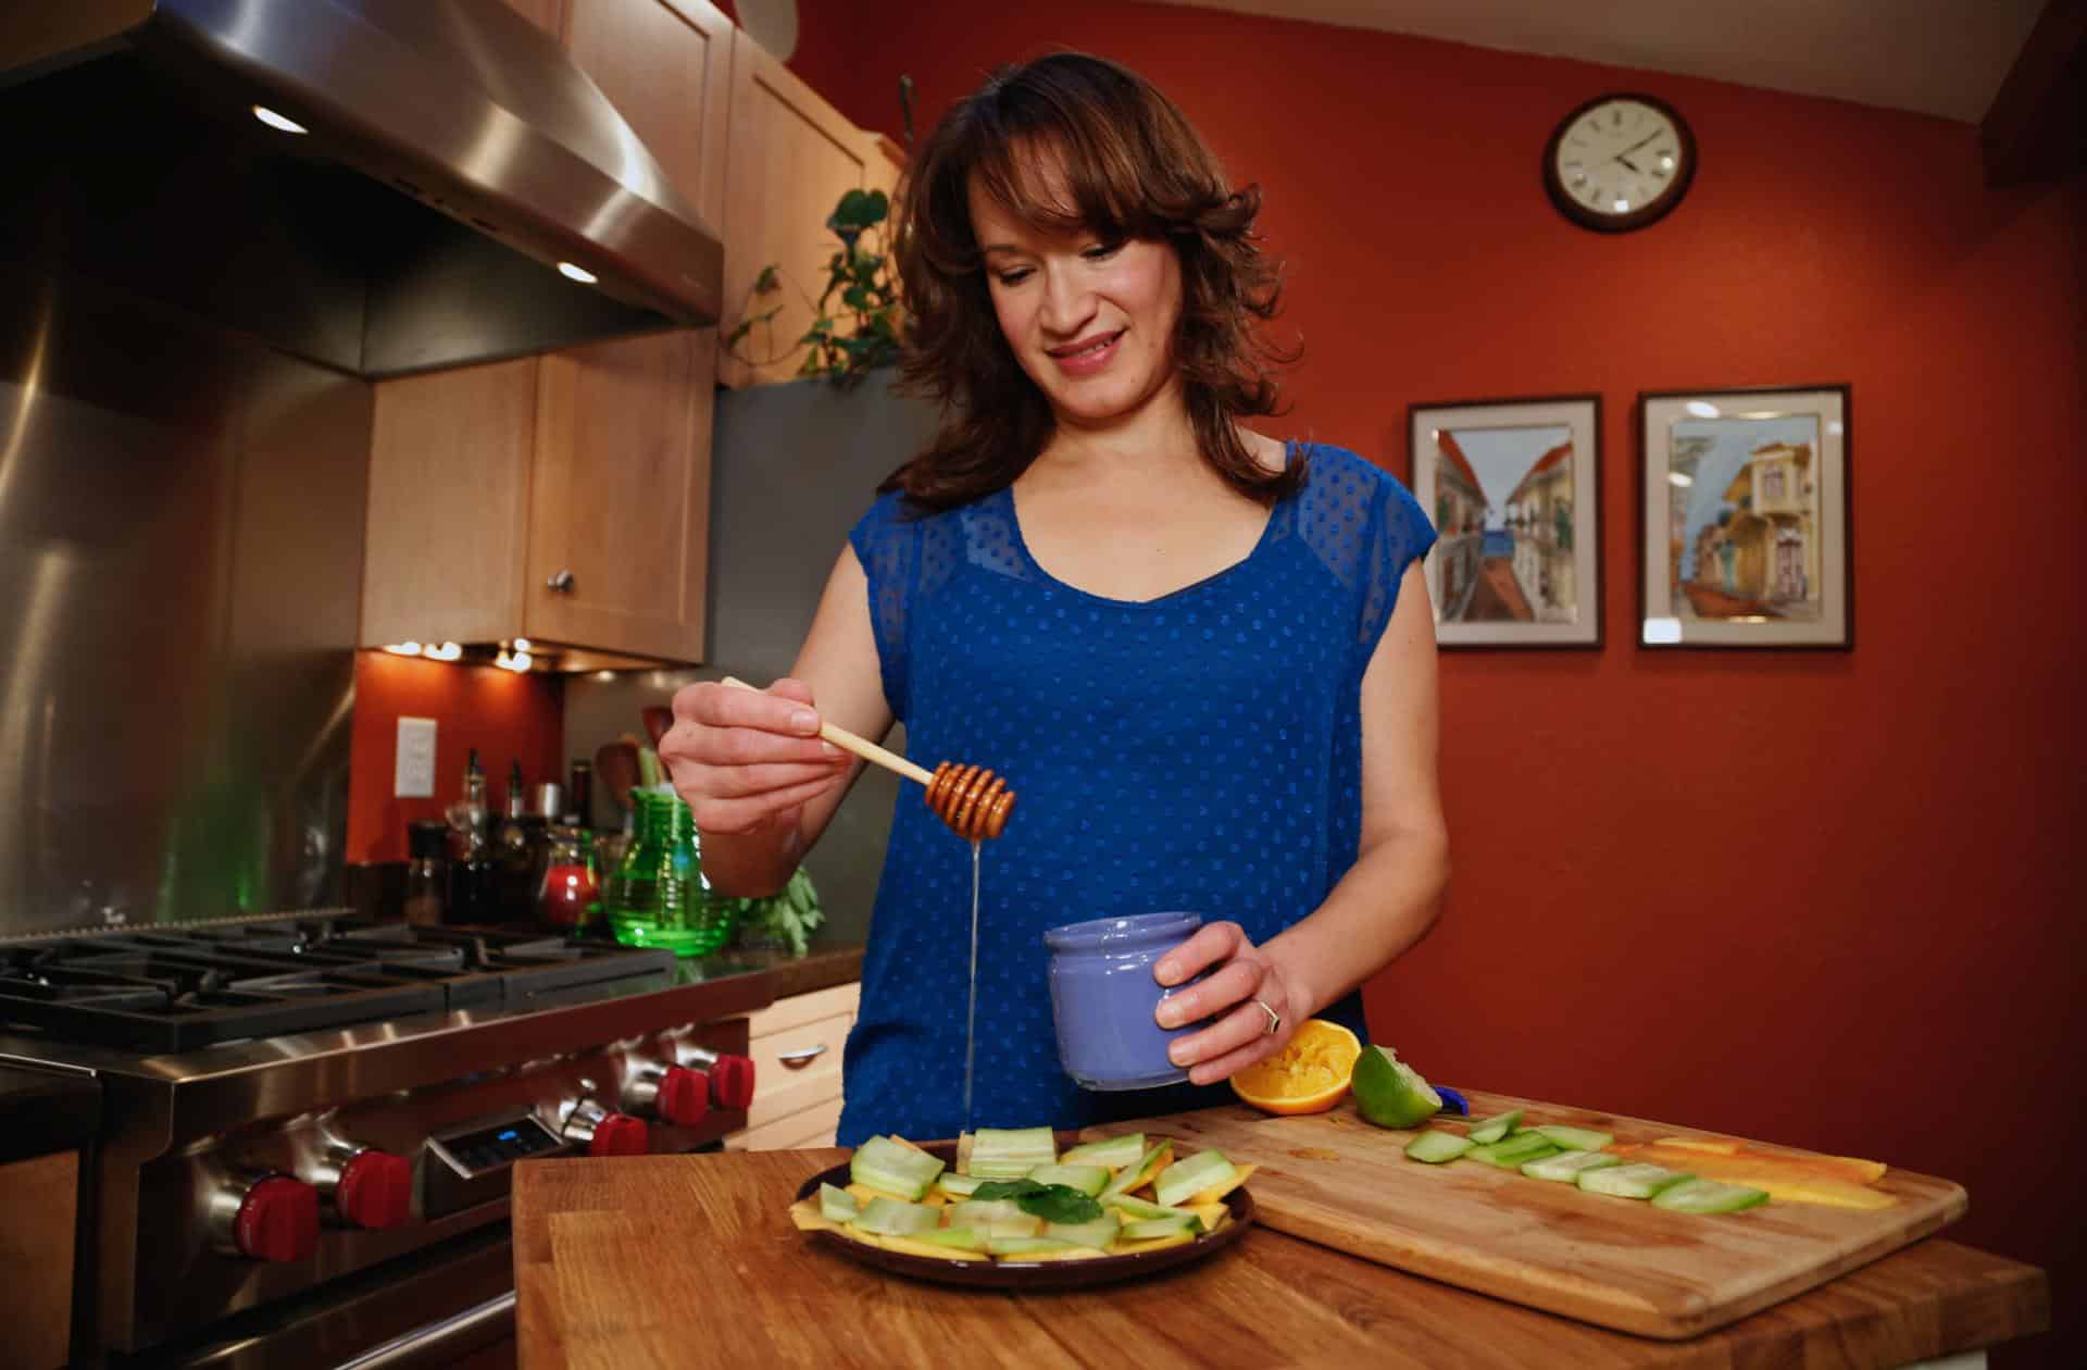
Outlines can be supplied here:
M1060 422L1102 424L1167 388L1181 317L1181 259L1171 244L1044 232L977 180L970 228L1000 332Z

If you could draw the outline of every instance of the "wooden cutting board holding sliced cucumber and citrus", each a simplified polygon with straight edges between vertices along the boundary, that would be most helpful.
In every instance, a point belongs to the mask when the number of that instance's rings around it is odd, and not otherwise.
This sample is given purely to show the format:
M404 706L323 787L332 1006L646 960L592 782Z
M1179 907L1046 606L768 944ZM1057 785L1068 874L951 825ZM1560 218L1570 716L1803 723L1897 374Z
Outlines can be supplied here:
M1705 1136L1688 1128L1467 1092L1471 1117L1524 1109L1524 1126L1572 1124L1617 1142ZM1956 1222L1949 1180L1889 1170L1885 1209L1774 1201L1743 1213L1670 1213L1482 1161L1421 1165L1415 1132L1375 1128L1350 1103L1269 1117L1244 1105L1089 1128L1173 1136L1261 1170L1258 1220L1382 1266L1640 1337L1682 1339L1745 1318ZM1461 1128L1446 1128L1461 1130ZM1789 1147L1751 1144L1782 1155Z

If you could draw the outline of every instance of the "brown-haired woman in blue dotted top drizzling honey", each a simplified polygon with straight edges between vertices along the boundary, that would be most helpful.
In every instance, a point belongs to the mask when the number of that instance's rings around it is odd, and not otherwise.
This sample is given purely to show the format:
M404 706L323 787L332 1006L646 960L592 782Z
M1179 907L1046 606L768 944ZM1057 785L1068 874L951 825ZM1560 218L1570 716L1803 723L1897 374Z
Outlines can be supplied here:
M1359 986L1430 927L1434 528L1352 453L1277 443L1275 267L1181 113L1056 54L995 73L899 192L906 380L943 401L833 568L791 679L691 685L662 743L714 885L783 885L860 762L820 721L977 762L1018 794L981 863L964 1113L966 844L902 796L847 1042L839 1140L1071 1128L1217 1103L1296 1023L1363 1034ZM1188 908L1156 967L1192 1086L1058 1067L1048 927ZM1229 1096L1229 1090L1223 1090Z

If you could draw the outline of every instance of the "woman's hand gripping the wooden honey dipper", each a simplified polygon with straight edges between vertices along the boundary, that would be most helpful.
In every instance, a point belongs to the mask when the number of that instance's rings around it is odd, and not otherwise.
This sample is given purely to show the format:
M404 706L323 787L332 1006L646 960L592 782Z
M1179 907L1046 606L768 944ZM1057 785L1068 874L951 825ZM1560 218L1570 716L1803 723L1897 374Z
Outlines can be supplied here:
M854 764L820 739L818 723L803 681L768 689L703 681L674 693L659 762L705 835L795 833L803 806L845 785Z

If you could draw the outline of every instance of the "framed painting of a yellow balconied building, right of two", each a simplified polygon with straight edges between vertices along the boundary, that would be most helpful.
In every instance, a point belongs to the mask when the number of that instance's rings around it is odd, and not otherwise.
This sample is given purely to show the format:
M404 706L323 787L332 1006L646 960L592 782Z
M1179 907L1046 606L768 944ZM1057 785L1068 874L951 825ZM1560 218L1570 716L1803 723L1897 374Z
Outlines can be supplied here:
M1638 645L1855 645L1849 386L1638 395Z

